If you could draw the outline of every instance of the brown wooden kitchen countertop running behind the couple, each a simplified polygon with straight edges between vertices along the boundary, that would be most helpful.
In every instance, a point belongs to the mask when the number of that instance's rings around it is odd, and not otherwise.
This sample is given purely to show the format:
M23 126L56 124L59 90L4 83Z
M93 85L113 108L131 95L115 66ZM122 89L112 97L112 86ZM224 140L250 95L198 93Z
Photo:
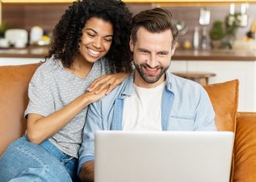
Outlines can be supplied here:
M43 58L48 46L29 46L24 49L0 49L0 57ZM251 50L175 50L172 60L256 60Z

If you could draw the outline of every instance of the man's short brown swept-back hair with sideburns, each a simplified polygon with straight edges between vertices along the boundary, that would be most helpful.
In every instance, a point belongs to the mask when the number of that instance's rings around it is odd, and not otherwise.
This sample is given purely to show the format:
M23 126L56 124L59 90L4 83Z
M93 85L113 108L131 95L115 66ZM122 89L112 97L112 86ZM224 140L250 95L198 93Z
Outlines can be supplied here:
M171 21L171 12L165 9L155 8L139 12L133 17L133 28L131 31L131 39L133 44L137 41L137 31L140 27L144 27L150 33L161 33L167 29L171 29L173 36L172 46L175 45L178 38L177 26Z

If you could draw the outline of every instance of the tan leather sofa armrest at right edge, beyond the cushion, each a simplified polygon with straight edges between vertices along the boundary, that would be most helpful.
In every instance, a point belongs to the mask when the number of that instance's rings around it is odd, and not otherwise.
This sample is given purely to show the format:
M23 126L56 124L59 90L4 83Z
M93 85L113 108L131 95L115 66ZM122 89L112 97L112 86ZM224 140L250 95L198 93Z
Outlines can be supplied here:
M234 181L256 179L256 112L239 112L234 143Z

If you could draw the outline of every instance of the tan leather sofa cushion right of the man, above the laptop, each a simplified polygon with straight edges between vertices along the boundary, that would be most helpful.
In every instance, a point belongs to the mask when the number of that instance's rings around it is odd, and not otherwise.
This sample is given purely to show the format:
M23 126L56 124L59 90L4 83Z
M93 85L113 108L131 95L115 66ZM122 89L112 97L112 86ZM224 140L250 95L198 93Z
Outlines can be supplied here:
M236 129L238 80L204 86L215 111L216 127L219 131Z

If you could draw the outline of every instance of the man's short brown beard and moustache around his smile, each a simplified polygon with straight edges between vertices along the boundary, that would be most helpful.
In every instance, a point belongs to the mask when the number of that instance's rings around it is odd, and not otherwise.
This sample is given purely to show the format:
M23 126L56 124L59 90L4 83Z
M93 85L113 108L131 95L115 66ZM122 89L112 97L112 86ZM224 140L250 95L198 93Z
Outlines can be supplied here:
M170 66L170 65L169 65ZM137 69L138 73L140 74L140 77L142 77L142 79L144 81L147 82L147 84L154 84L157 81L159 81L159 79L161 78L161 76L165 73L165 71L168 70L168 67L157 67L157 69L161 69L161 71L159 72L159 74L157 75L150 75L144 72L144 68L143 67L149 67L147 64L135 64L134 63L134 67Z

